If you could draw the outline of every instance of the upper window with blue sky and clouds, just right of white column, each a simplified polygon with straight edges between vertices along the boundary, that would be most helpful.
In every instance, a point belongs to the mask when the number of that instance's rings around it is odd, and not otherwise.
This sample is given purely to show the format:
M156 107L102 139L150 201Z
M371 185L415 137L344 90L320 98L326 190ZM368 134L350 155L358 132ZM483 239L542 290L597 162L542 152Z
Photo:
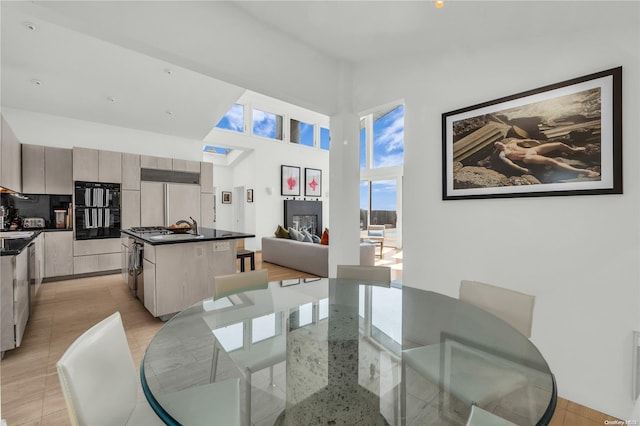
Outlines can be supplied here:
M373 167L401 166L404 162L404 105L373 120Z

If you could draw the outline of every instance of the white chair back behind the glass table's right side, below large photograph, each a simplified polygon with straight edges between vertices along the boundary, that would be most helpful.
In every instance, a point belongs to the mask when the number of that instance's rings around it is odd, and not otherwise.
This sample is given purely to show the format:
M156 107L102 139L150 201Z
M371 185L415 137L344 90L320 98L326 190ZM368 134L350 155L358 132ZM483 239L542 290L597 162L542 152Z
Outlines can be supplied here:
M491 312L531 337L535 296L478 281L460 282L460 300Z

